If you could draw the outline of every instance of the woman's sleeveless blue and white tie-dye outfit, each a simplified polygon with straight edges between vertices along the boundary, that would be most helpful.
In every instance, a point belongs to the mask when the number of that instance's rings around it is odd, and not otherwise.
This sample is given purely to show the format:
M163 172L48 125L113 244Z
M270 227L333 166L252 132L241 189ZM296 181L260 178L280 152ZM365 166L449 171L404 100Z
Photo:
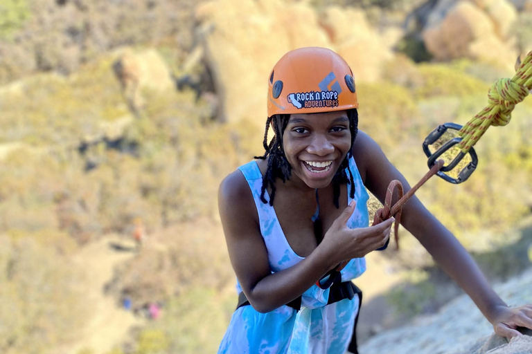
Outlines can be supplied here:
M360 178L353 158L349 167L355 183L356 209L347 223L348 227L367 227L369 216L366 188ZM299 257L290 247L274 207L260 201L263 176L255 161L239 167L253 194L260 223L260 232L268 252L272 272L278 272L299 263ZM269 199L269 196L266 196ZM348 193L348 201L351 197ZM342 270L342 281L348 281L366 270L364 258L352 259ZM242 291L237 281L238 292ZM258 313L251 306L242 306L233 313L218 353L277 354L317 353L344 354L358 312L358 298L344 299L327 305L329 289L314 285L301 296L301 310L281 306L269 313Z

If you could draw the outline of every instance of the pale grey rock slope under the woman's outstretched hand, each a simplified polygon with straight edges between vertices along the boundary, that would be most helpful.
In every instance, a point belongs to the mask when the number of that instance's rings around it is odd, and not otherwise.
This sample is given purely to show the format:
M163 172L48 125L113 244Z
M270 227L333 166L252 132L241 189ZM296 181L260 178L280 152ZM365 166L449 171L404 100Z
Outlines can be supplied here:
M509 306L531 304L532 270L495 286L495 290ZM437 315L372 337L360 347L360 353L524 354L532 353L532 337L529 335L514 338L509 343L493 335L488 320L469 297L462 295Z

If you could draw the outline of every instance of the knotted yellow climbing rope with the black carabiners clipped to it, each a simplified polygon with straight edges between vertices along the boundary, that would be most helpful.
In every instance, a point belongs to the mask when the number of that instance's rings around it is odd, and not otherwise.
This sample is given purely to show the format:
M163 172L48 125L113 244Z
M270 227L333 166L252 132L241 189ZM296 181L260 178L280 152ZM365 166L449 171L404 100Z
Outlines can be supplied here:
M515 73L512 79L500 79L490 87L488 91L488 106L477 113L463 127L459 124L445 123L436 128L425 138L423 151L427 155L427 165L434 166L436 159L443 153L456 146L460 152L452 162L438 171L437 175L447 182L459 184L467 180L475 171L478 164L477 154L473 146L486 133L490 126L504 126L511 120L511 114L516 104L522 102L524 98L532 92L532 51L524 57L523 62L517 58ZM447 129L458 130L458 137L447 141L434 153L429 150L429 145L434 144L441 138ZM471 162L462 169L457 178L452 178L444 172L451 171L458 163L470 154Z

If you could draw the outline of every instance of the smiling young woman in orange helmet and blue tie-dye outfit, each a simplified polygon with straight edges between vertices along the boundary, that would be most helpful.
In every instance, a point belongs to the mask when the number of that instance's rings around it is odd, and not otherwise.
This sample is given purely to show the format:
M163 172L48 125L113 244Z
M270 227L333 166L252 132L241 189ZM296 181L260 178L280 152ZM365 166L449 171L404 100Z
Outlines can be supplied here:
M351 279L366 269L364 255L387 245L393 222L368 227L365 188L380 201L391 180L409 189L375 141L358 131L357 106L351 68L332 50L300 48L274 66L265 154L220 185L240 295L218 353L346 352L359 310ZM269 128L275 136L268 143ZM497 334L532 328L532 306L508 308L417 198L403 208L401 223Z

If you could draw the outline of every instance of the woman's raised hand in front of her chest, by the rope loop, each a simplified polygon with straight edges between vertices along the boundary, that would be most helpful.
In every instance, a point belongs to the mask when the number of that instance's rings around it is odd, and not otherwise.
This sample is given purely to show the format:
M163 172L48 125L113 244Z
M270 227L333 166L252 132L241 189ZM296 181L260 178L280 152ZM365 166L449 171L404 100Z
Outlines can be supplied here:
M344 212L332 223L321 241L321 244L328 248L332 259L335 259L334 263L364 257L369 252L384 246L389 239L394 218L370 227L356 229L348 227L347 222L355 211L355 207L356 202L351 201Z

